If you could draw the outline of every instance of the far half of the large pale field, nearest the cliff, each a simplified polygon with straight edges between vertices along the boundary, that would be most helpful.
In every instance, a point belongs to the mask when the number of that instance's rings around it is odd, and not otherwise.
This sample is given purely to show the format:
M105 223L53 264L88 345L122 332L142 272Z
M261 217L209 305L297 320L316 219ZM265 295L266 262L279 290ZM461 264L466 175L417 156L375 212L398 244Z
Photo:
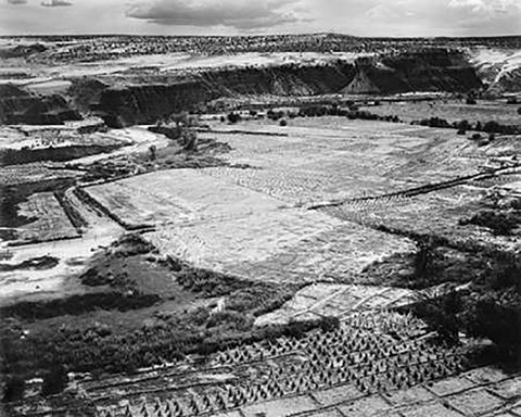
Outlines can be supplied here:
M233 148L226 155L230 163L262 169L217 167L205 173L304 204L379 195L478 174L490 152L452 129L345 117L296 118L288 127L217 124L215 129L205 135ZM229 134L232 129L258 135Z

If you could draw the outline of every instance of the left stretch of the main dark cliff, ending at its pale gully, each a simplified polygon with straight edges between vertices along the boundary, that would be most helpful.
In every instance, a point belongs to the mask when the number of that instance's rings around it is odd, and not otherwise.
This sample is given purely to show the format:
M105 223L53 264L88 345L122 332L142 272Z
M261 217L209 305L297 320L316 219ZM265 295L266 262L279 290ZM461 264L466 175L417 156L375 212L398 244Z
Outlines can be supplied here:
M180 80L170 79L170 84L109 88L101 93L96 109L113 127L154 123L220 97L334 93L351 81L354 73L354 66L346 63L207 71Z

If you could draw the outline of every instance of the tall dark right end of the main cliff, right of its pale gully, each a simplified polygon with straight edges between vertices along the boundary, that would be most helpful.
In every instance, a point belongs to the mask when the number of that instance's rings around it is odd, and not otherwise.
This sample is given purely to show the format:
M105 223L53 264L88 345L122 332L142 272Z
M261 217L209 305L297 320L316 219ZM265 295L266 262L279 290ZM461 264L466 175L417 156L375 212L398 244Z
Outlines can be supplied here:
M356 76L343 92L466 92L481 87L480 78L463 54L432 49L358 59Z

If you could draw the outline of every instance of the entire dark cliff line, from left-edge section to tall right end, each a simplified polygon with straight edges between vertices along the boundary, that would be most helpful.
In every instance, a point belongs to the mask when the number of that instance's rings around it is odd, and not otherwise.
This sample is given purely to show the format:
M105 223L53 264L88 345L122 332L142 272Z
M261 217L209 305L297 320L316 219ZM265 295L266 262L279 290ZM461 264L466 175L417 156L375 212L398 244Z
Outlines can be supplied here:
M153 124L220 98L467 92L483 87L466 55L447 49L266 66L186 71L137 67L69 80L66 94L37 96L22 87L3 85L0 123L60 124L94 113L107 126L122 127Z

